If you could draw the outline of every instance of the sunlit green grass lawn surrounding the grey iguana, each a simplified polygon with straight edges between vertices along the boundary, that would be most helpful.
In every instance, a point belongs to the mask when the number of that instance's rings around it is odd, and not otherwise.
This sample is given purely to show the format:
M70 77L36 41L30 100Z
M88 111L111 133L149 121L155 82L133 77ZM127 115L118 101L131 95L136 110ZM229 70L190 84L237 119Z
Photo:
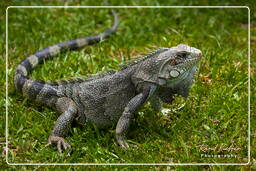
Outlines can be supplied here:
M214 5L214 1L152 1L127 5ZM97 2L13 1L8 5L104 5ZM122 5L118 1L112 5ZM246 4L246 3L245 3ZM236 5L245 5L236 4ZM215 3L215 5L217 5ZM235 5L226 2L218 5ZM250 4L253 5L253 4ZM37 67L31 77L55 80L95 74L118 69L119 64L144 55L156 47L172 47L180 43L202 50L204 57L196 82L192 86L185 108L168 116L155 114L149 105L138 112L127 135L138 148L122 149L115 144L114 129L98 130L93 126L76 127L66 138L72 151L59 154L55 147L45 148L47 138L58 117L52 109L36 105L18 94L13 75L19 62L39 49L58 42L90 36L104 31L113 21L108 9L14 9L8 10L8 128L10 163L246 163L248 149L248 9L117 9L120 26L115 35L97 45L80 51L61 54ZM252 13L252 19L255 19ZM1 16L4 33L5 17ZM251 31L255 30L252 21ZM1 34L1 69L5 70L5 35ZM252 35L251 47L255 47ZM255 60L252 58L251 84L255 83ZM1 113L5 121L5 73L1 78ZM255 87L251 103L255 104ZM183 103L179 98L172 105ZM252 108L252 116L255 108ZM255 119L251 127L255 128ZM5 138L5 123L0 123L1 142ZM251 141L255 145L255 130ZM4 147L4 144L1 144ZM237 158L202 158L200 145L209 147L240 147ZM2 148L3 149L3 148ZM69 151L70 152L70 151ZM207 154L219 154L208 152ZM255 152L252 151L252 163ZM2 165L7 167L2 155ZM243 166L240 169L255 168ZM22 169L51 169L52 167L21 167ZM55 166L63 169L64 166ZM98 169L99 167L90 167ZM114 166L104 166L114 169ZM137 169L173 169L166 166L137 166ZM217 169L223 166L182 166L176 169ZM229 167L234 169L235 167ZM15 169L9 166L9 169ZM72 169L67 166L66 169ZM74 169L83 169L75 167ZM134 169L118 166L116 169ZM256 169L256 168L255 168Z

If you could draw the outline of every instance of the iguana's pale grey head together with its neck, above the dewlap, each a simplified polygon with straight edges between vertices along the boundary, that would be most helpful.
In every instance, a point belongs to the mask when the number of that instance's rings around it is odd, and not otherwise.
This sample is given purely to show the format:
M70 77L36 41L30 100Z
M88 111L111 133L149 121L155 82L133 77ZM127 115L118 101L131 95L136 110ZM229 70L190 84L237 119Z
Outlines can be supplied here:
M164 87L173 87L182 80L191 82L201 56L199 49L184 44L158 49L135 65L132 80L135 85L151 82Z

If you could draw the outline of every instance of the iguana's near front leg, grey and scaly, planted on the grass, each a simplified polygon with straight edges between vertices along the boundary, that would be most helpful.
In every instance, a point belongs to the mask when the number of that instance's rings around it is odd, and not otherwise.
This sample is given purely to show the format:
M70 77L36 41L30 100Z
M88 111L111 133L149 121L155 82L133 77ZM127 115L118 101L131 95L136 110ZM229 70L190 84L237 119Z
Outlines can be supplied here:
M143 91L132 98L124 109L124 112L118 120L116 126L116 139L121 147L128 148L129 145L125 140L125 133L127 132L131 119L133 119L134 112L148 99L148 97L155 90L155 86L147 86Z

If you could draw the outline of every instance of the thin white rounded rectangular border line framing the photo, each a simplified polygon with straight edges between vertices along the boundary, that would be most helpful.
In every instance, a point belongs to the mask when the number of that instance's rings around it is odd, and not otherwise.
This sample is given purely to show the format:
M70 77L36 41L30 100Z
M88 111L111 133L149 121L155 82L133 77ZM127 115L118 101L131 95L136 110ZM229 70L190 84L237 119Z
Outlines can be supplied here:
M9 8L247 8L248 9L248 162L247 163L9 163L8 162L8 9ZM248 6L8 6L6 8L6 163L8 165L248 165L250 164L250 8Z

